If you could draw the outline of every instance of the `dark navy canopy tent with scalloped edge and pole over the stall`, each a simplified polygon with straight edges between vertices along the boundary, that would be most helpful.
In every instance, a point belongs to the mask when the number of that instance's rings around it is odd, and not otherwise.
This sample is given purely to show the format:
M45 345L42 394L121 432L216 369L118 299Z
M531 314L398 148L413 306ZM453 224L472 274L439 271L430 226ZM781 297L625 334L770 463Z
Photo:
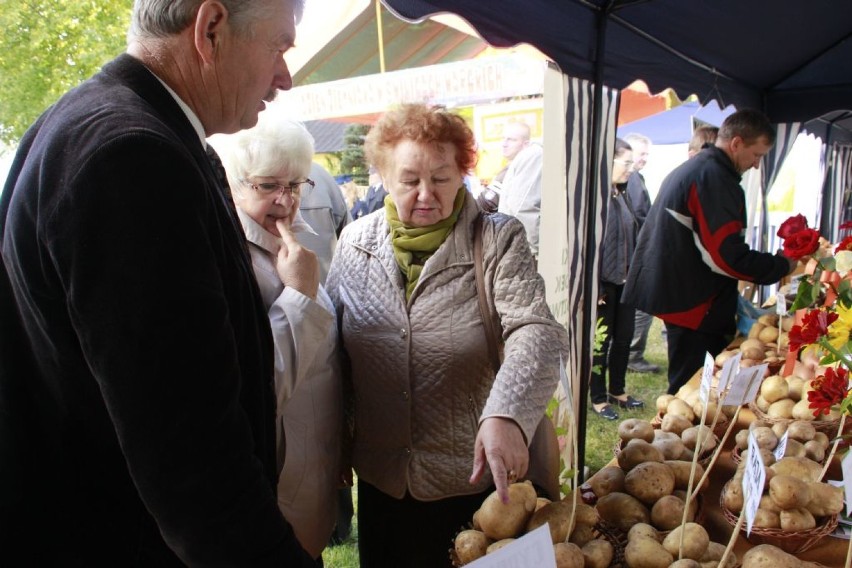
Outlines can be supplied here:
M652 91L670 87L682 99L757 108L779 125L779 144L764 161L777 172L801 123L852 109L852 4L835 0L382 0L404 19L419 21L441 12L466 19L498 47L529 43L563 73L593 83L583 144L586 200L582 314L569 328L581 341L580 360L569 371L588 377L596 297L596 264L602 195L599 183L611 135L604 88L622 89L642 79ZM570 97L570 95L569 95ZM845 117L845 118L841 118ZM833 131L848 113L835 117ZM816 128L819 123L811 122ZM604 184L605 185L605 184ZM765 185L768 187L768 184ZM765 195L764 195L765 197ZM569 196L569 200L572 196ZM764 207L765 211L766 208ZM574 275L575 277L577 275ZM585 322L585 324L583 323ZM573 332L573 333L572 333ZM579 416L585 416L587 381L581 381ZM585 425L578 420L580 466Z

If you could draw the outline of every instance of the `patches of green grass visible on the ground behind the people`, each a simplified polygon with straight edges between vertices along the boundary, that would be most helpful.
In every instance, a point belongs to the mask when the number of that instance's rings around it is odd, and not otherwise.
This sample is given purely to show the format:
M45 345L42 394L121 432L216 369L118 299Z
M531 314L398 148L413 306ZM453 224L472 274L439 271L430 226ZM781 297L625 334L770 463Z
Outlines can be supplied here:
M666 342L660 331L662 322L654 319L648 334L648 346L645 358L660 366L659 373L627 373L627 392L635 398L645 401L644 410L619 410L619 420L604 420L591 410L586 420L586 466L589 475L605 466L613 457L613 448L618 440L618 423L625 418L644 418L650 420L657 413L657 397L666 392ZM358 509L358 490L353 488L352 501ZM322 553L326 568L358 568L358 520L352 521L352 535L343 544L328 547Z

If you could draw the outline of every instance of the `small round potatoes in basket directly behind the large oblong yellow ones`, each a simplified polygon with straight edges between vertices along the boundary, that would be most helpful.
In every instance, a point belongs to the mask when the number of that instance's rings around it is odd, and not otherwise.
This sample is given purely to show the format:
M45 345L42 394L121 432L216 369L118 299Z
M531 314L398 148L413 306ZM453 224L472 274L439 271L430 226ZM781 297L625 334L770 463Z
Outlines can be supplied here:
M748 449L750 432L754 432L758 447L769 452L775 450L786 433L787 447L784 448L784 457L806 457L818 463L825 461L830 445L828 435L814 428L810 421L793 420L770 424L757 420L752 422L748 429L737 432L736 447L741 455Z

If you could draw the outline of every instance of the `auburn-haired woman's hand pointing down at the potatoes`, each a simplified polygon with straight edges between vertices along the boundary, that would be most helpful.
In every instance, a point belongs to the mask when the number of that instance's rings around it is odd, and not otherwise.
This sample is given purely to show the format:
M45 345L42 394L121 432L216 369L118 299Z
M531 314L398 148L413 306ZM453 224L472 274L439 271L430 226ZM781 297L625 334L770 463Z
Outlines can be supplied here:
M486 418L479 426L473 449L473 474L471 483L477 483L491 468L497 494L503 503L509 502L509 478L520 479L527 474L529 450L520 426L509 418Z

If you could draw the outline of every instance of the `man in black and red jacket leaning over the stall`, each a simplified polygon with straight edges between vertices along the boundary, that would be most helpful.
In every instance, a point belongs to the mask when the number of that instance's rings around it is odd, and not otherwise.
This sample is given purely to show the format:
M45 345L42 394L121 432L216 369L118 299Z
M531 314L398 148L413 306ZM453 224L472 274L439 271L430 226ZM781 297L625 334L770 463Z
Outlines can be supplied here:
M717 355L736 330L737 281L772 284L795 261L746 244L743 173L775 142L760 112L730 115L715 146L675 168L660 187L639 234L624 302L666 324L669 394Z

